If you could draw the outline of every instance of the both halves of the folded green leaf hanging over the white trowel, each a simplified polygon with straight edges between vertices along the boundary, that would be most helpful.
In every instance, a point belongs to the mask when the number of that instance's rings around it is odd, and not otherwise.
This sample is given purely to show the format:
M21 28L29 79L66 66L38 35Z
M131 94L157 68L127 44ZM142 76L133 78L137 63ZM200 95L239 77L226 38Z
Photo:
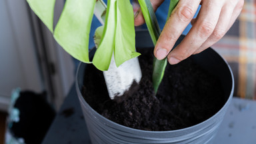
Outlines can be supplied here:
M105 71L115 55L117 67L139 56L135 52L135 28L133 7L129 1L109 0L103 37L93 58L93 64Z

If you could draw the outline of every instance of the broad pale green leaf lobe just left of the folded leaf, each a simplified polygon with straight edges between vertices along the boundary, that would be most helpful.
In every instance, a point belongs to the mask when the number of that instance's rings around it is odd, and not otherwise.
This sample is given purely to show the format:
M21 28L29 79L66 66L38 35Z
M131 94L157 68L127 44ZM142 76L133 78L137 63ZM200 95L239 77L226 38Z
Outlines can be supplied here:
M67 0L55 27L56 41L75 59L89 61L89 33L95 1Z

